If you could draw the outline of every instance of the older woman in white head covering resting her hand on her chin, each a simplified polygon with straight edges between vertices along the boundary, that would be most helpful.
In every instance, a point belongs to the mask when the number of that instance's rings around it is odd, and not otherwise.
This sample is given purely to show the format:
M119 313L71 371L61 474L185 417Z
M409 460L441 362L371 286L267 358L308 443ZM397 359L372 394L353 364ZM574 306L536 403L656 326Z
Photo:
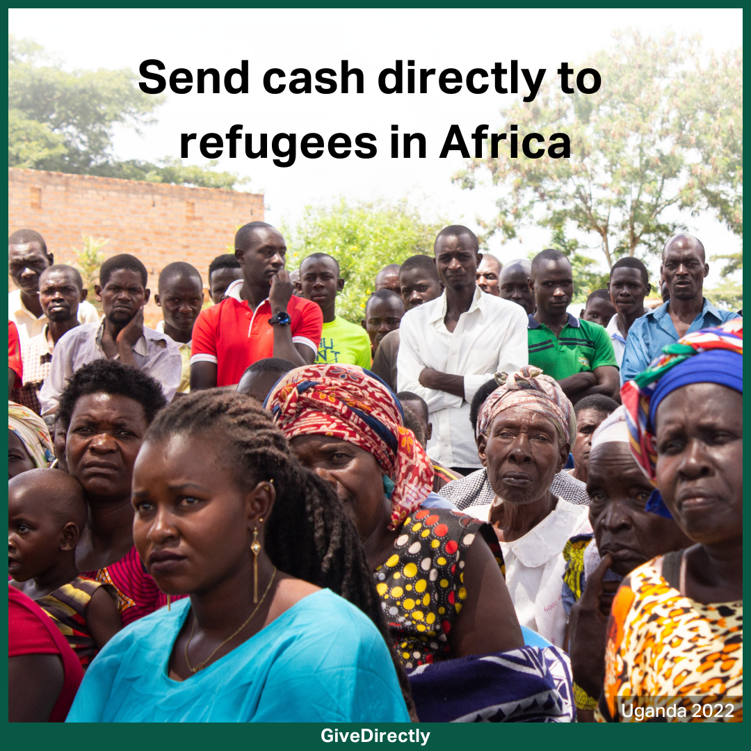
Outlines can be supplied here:
M605 673L606 626L621 578L655 556L691 544L674 519L647 511L653 485L632 457L623 406L597 428L591 443L587 491L594 534L577 535L563 549L562 597L569 613L579 722L594 722Z

